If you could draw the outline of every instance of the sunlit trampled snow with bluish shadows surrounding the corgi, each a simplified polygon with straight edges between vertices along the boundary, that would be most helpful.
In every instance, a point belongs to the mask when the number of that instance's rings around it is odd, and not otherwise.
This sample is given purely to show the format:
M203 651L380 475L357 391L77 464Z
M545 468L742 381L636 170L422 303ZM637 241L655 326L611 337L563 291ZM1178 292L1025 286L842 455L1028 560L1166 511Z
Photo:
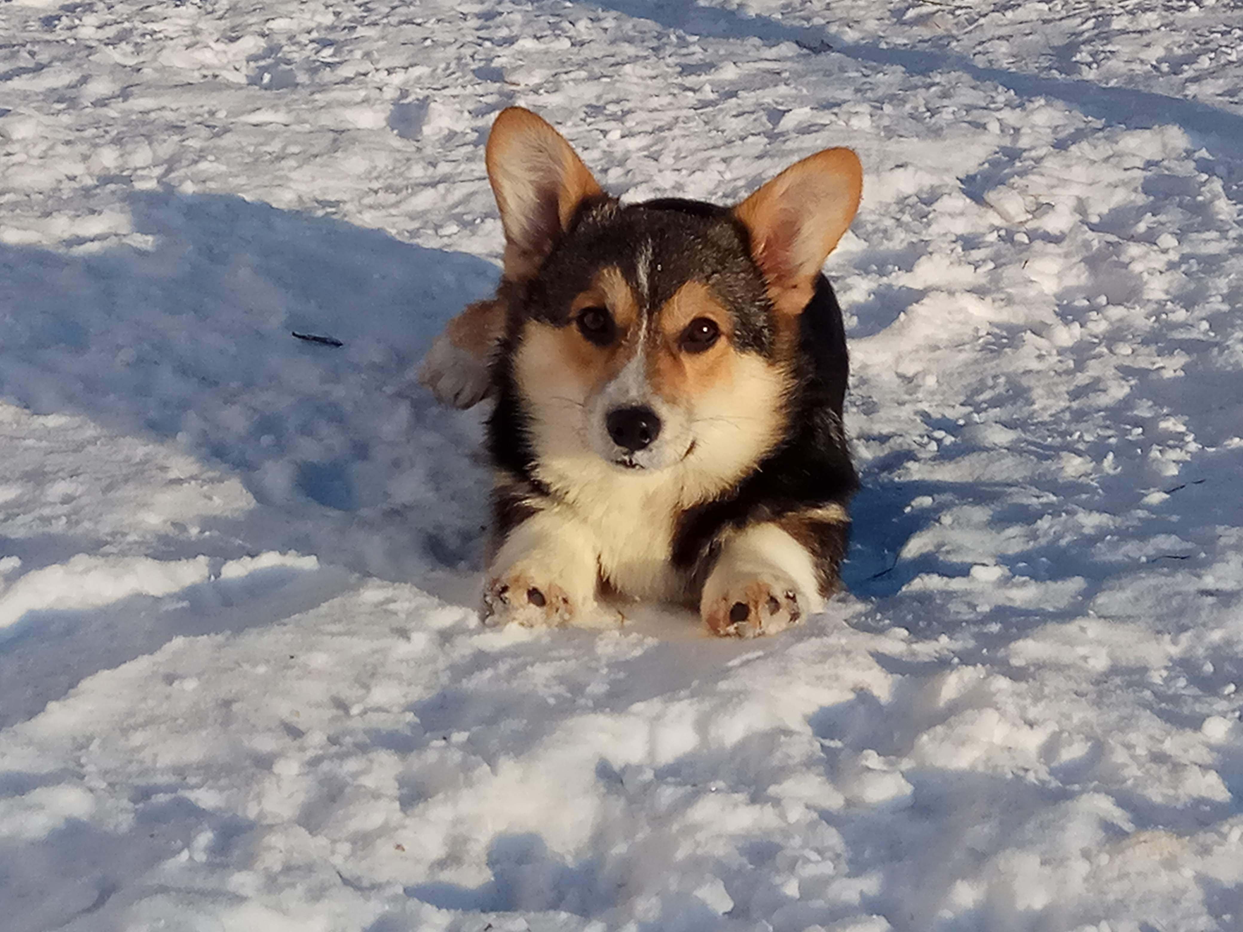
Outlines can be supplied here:
M1105 9L0 6L0 925L1243 927L1243 6ZM410 373L508 103L635 196L863 157L803 629L480 628Z

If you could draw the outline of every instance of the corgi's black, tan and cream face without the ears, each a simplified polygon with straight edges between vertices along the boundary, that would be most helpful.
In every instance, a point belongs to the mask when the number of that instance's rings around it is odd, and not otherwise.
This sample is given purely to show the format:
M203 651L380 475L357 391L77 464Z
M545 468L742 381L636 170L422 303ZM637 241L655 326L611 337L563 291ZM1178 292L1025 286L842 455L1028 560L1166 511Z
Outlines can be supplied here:
M779 436L779 322L728 211L588 206L523 311L513 373L541 459L723 476Z

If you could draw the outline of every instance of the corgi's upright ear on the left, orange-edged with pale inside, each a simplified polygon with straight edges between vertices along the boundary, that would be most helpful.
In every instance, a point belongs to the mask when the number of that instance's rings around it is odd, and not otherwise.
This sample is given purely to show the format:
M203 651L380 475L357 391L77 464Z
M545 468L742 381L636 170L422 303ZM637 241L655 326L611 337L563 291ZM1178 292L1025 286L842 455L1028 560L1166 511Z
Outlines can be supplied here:
M487 137L487 178L505 226L505 277L532 277L584 199L603 194L561 134L510 107Z

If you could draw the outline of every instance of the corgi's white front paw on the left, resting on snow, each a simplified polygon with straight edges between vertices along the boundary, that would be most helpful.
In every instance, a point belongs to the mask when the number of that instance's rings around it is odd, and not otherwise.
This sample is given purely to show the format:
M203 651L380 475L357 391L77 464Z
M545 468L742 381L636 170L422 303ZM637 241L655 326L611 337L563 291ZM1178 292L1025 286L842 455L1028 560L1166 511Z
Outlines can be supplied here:
M595 611L599 554L592 533L556 509L508 532L484 588L482 618L530 628L568 624Z

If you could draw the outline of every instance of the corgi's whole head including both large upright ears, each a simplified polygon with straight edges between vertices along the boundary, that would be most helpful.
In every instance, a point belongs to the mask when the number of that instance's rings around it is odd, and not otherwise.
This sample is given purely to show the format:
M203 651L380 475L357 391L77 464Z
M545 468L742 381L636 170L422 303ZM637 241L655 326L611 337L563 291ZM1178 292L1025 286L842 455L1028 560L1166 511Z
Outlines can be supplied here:
M487 171L536 459L676 470L687 501L753 467L786 430L798 314L859 205L855 154L812 155L732 209L623 205L552 127L511 108Z

